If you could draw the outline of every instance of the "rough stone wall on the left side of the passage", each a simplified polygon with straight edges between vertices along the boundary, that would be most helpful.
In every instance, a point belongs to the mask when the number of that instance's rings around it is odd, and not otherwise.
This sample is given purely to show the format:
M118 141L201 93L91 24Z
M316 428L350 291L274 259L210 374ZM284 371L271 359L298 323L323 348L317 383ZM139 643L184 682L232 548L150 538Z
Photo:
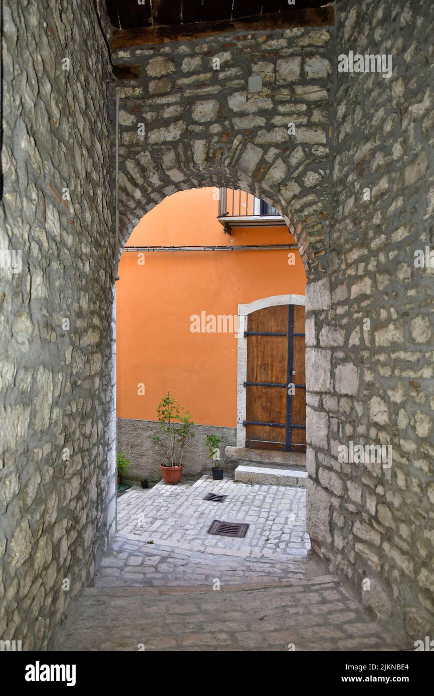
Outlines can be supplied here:
M3 3L0 249L21 260L0 267L0 638L24 650L47 647L116 524L98 4Z

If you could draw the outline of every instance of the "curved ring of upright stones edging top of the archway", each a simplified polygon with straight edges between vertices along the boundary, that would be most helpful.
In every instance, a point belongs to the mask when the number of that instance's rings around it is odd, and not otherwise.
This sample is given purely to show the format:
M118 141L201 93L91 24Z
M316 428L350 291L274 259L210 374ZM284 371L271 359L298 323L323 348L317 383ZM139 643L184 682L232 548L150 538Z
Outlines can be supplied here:
M192 161L199 157L196 142L186 141L184 153L186 159ZM321 200L319 192L310 192L309 196L300 198L298 194L305 184L299 177L286 179L278 184L273 177L265 175L266 169L258 173L257 164L260 159L247 143L244 150L242 142L238 143L236 167L210 166L204 162L194 168L173 168L164 171L170 164L177 162L173 148L166 146L153 153L154 159L148 152L143 153L137 159L127 159L125 171L119 174L119 202L121 212L119 216L119 243L123 246L130 238L132 230L137 226L141 218L150 210L161 203L164 198L177 191L187 191L201 187L225 187L231 190L245 191L256 200L262 200L272 207L284 218L288 230L298 246L300 257L306 271L307 278L320 277L324 271L324 239L327 237L328 214L325 204ZM190 151L191 148L191 151ZM258 148L254 148L258 149ZM204 155L205 156L205 155ZM275 158L276 155L274 154ZM263 180L261 178L263 175ZM307 193L307 191L306 191Z

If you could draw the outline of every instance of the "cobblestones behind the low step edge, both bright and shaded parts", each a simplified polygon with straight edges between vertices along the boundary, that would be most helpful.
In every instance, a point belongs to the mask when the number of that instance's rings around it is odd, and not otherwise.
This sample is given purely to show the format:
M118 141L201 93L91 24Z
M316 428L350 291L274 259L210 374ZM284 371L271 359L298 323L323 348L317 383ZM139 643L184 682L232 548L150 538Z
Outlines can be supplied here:
M227 498L203 500L210 492ZM118 500L116 541L98 560L95 585L274 585L288 573L303 574L310 546L304 496L304 489L210 476L127 491ZM247 536L208 535L214 519L249 523Z

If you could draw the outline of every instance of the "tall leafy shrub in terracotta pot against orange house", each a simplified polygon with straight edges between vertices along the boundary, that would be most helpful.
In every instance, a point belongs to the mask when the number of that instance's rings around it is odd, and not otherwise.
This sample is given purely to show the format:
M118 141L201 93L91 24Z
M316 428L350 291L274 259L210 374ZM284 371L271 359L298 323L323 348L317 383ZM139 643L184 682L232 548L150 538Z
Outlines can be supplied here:
M164 456L164 464L160 464L163 479L166 483L179 483L183 473L185 452L194 438L194 422L184 406L173 399L169 392L162 398L157 407L158 427L160 435L149 435L153 442L160 446Z

